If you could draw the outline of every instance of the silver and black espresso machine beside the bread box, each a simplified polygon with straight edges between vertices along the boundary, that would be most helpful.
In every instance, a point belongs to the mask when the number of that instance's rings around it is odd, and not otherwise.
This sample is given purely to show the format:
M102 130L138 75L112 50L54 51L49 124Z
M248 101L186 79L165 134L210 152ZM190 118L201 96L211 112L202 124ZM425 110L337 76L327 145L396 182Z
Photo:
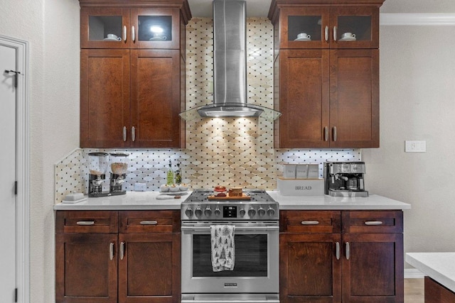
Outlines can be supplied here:
M324 162L324 193L332 197L368 197L365 162Z

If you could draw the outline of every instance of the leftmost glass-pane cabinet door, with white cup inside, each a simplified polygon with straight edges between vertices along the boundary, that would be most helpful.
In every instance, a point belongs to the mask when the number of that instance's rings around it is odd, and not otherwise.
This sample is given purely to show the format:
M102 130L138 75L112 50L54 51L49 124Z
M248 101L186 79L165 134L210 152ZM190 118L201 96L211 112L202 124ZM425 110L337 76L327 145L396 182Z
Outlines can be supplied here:
M82 48L129 48L129 10L82 8Z

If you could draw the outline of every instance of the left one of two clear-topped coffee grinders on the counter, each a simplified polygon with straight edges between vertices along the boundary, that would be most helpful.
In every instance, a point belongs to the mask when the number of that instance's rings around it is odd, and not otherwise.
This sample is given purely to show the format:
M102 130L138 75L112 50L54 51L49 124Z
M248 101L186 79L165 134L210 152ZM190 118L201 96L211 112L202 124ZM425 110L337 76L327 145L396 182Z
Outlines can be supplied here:
M89 153L89 181L88 197L105 197L109 192L103 191L103 184L106 180L106 170L109 165L109 154Z

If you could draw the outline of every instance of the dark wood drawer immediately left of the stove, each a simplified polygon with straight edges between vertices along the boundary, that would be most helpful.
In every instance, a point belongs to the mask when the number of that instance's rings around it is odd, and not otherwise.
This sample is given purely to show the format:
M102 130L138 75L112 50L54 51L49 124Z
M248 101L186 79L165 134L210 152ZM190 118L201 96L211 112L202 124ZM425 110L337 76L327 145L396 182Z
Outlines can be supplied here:
M178 233L180 211L120 211L120 233Z

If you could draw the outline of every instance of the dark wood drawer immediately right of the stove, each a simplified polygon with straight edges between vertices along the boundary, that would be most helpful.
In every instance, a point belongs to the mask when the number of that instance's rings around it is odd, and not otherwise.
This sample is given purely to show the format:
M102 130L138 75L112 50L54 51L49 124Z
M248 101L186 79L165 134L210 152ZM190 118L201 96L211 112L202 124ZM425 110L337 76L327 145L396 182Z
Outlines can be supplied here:
M282 233L339 233L340 211L280 211Z

